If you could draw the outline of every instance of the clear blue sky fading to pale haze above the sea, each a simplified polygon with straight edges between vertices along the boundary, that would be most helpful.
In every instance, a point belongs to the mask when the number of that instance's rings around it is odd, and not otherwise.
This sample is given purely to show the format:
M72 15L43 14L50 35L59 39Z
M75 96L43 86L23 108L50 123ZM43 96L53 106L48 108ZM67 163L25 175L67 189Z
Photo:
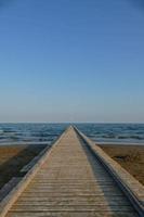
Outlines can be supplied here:
M0 0L0 122L144 123L135 2Z

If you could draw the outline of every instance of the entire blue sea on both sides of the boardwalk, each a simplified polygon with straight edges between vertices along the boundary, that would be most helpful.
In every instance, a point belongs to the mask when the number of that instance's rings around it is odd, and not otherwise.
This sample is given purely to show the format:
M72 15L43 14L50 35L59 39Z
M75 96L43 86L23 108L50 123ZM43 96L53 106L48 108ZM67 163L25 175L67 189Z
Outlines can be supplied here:
M144 144L144 124L74 124L95 142ZM51 144L69 124L0 124L0 144Z

